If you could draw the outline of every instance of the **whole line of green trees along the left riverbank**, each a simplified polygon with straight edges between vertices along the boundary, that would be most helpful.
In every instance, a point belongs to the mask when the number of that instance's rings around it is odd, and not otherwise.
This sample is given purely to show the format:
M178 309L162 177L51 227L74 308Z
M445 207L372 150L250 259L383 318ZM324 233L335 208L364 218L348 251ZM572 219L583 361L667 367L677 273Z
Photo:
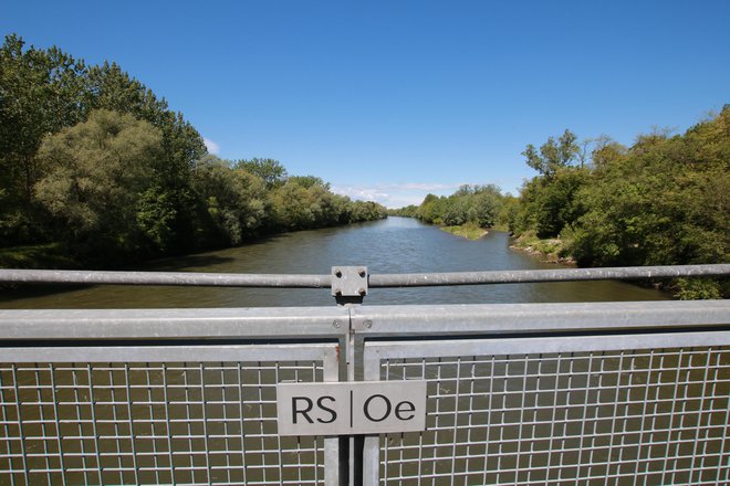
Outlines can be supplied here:
M0 247L85 265L386 216L273 159L223 160L117 64L8 35L0 49Z

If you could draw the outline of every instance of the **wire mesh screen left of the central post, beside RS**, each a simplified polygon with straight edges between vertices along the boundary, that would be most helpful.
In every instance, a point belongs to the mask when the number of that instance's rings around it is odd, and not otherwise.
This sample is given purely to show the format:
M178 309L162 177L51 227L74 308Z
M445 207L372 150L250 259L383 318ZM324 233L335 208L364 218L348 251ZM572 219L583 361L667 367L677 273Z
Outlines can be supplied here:
M0 364L0 484L324 484L277 435L275 383L321 361Z

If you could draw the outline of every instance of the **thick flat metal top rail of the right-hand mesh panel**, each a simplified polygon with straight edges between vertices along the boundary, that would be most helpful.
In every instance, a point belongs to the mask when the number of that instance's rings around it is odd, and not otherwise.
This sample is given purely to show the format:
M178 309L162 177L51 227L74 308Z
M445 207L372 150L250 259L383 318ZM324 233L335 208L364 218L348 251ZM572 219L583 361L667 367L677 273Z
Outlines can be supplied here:
M730 300L362 306L351 317L367 337L692 329L727 327Z

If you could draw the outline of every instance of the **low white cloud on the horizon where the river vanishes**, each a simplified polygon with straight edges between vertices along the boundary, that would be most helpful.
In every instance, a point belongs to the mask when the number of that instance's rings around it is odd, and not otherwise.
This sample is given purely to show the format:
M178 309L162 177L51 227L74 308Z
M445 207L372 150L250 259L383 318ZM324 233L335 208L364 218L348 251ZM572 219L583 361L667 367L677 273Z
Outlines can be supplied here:
M405 182L400 184L347 186L335 184L332 191L348 196L352 199L375 201L386 208L403 208L409 204L420 204L427 193L434 192L446 196L453 192L461 184Z

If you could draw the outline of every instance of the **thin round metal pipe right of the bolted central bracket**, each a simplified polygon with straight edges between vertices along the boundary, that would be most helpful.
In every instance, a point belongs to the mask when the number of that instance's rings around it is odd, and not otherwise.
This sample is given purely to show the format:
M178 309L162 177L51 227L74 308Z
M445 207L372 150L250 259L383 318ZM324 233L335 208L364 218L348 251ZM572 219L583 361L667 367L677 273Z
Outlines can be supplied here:
M371 287L528 284L730 275L730 264L371 275Z

